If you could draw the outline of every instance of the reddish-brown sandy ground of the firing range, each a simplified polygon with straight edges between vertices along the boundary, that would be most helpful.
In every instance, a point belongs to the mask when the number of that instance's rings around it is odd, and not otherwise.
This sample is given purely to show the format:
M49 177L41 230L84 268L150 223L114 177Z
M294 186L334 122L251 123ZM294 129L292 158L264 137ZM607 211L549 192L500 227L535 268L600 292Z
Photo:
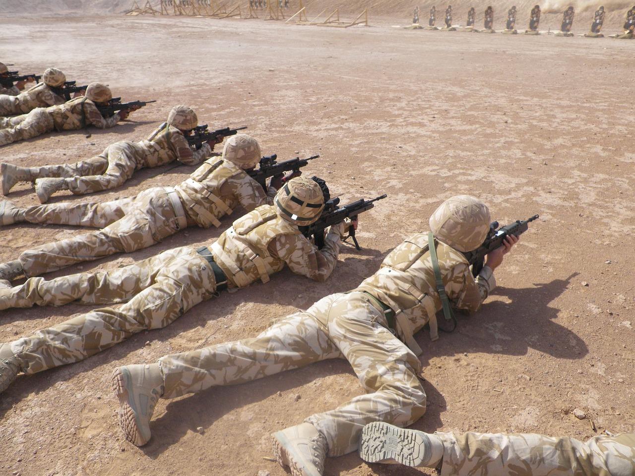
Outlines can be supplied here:
M1 474L284 475L262 459L271 456L269 434L363 392L344 360L162 400L152 440L141 449L119 432L113 367L253 336L272 318L353 288L404 237L427 230L439 202L459 193L481 197L500 223L540 219L497 270L500 286L478 314L434 343L418 335L429 407L414 427L580 439L633 431L635 41L392 27L400 23L329 29L147 16L0 20L3 44L11 45L4 62L24 71L56 65L78 83L109 83L124 100L157 100L90 138L77 131L3 147L3 161L34 166L96 155L109 143L143 138L185 103L211 127L248 126L265 154L320 154L310 173L326 178L344 202L389 195L361 217L363 250L345 247L324 284L285 271L83 362L18 378L0 398ZM192 171L169 168L140 171L109 193L65 192L53 201L130 196ZM10 199L37 204L27 184ZM0 260L80 231L3 228ZM108 269L218 234L190 229L67 271ZM0 341L86 310L1 312ZM425 471L366 465L353 453L328 459L324 473Z

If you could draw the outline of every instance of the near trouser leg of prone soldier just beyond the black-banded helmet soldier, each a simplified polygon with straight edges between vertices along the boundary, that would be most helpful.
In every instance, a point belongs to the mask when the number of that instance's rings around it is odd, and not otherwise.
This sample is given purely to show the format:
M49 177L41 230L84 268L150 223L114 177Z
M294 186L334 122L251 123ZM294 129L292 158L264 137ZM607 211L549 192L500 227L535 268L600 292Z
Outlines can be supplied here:
M24 251L19 260L27 277L37 276L114 253L147 248L175 234L179 227L168 194L163 188L151 188L137 196L130 213L102 230Z

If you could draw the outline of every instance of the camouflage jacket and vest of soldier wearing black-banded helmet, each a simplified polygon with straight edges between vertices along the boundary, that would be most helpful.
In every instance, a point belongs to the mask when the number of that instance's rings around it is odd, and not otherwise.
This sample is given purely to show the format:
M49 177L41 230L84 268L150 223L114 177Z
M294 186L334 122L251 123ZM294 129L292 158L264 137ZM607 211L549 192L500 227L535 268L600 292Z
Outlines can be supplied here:
M315 281L326 281L333 272L344 226L331 227L324 248L318 250L297 225L281 218L271 205L263 205L234 221L210 246L218 266L231 286L244 288L288 267Z

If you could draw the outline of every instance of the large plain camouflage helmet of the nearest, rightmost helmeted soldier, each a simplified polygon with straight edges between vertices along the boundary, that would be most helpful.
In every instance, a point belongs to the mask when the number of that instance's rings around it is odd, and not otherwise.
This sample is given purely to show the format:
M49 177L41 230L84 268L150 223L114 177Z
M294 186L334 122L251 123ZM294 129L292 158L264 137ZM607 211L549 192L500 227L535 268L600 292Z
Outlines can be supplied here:
M451 197L430 217L430 229L439 241L458 251L476 249L490 230L490 209L470 195Z

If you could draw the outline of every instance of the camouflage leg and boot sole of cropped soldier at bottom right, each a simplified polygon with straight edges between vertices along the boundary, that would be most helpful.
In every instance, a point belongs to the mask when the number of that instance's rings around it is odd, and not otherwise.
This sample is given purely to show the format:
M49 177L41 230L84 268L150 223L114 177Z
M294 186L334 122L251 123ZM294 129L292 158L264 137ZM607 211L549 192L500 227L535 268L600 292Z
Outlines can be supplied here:
M632 476L635 433L583 443L534 433L430 434L374 422L364 426L359 454L369 463L437 468L440 476Z

